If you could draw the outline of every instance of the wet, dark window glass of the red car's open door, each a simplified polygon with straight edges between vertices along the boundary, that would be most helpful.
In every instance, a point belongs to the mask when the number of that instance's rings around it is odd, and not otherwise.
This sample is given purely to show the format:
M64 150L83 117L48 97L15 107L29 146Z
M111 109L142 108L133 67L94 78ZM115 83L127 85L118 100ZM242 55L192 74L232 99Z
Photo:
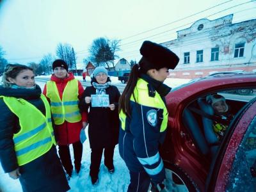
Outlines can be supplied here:
M256 189L256 116L239 145L227 180L227 191L255 191Z

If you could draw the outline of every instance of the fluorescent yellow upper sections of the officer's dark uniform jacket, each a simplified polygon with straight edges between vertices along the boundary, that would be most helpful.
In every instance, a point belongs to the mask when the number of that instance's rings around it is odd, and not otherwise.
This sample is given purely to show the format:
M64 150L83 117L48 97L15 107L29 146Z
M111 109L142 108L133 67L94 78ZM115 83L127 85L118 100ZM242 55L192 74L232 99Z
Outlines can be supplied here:
M134 97L136 98L136 103L140 104L141 106L163 109L163 121L160 128L160 132L163 132L166 130L168 123L168 111L159 93L156 92L155 97L148 96L147 84L147 81L139 78L136 87L134 88ZM134 97L131 95L130 100L133 102L135 102ZM125 121L127 116L123 111L120 111L119 118L121 121L121 127L125 130Z

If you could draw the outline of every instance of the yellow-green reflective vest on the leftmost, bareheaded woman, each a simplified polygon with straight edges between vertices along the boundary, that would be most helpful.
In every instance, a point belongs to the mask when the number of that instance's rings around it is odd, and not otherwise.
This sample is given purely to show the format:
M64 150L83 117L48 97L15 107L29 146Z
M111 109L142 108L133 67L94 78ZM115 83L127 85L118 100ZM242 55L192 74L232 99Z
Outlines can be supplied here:
M19 118L20 131L13 134L13 143L19 166L27 164L56 145L51 122L51 109L44 95L45 116L24 99L4 97L5 104Z

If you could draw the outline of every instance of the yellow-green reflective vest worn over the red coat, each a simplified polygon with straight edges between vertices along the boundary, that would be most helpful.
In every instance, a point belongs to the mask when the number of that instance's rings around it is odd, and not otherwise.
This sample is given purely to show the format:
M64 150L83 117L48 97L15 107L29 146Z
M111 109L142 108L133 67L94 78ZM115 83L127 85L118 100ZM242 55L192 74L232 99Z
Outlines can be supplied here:
M54 124L61 125L66 120L70 123L81 121L81 113L78 108L78 81L72 79L68 81L62 95L62 100L58 88L54 81L48 81L46 97L51 100L51 111Z

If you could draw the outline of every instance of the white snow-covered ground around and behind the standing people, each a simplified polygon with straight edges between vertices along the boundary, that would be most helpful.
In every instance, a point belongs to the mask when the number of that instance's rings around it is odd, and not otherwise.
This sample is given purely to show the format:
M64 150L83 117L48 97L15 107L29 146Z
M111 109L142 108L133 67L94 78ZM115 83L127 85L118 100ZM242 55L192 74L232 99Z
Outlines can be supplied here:
M81 76L77 76L77 79L83 81ZM180 84L187 83L190 79L166 79L164 83L171 87L179 86ZM1 77L0 77L1 81ZM86 81L90 81L90 77L86 77ZM117 77L111 77L113 84L120 83ZM41 88L44 88L44 84L40 81L36 82ZM86 136L88 138L88 129L86 128ZM72 154L73 150L70 147L70 152ZM90 176L90 145L88 139L83 143L83 158L82 158L82 168L77 175L75 172L69 181L70 192L84 192L84 191L127 191L129 185L129 171L125 166L124 161L119 156L118 145L115 147L114 154L114 165L115 173L109 174L108 170L104 166L104 157L102 157L102 163L100 166L99 173L99 184L98 186L93 186ZM0 166L0 192L19 192L22 191L19 180L11 179L7 173L4 173L3 168Z

